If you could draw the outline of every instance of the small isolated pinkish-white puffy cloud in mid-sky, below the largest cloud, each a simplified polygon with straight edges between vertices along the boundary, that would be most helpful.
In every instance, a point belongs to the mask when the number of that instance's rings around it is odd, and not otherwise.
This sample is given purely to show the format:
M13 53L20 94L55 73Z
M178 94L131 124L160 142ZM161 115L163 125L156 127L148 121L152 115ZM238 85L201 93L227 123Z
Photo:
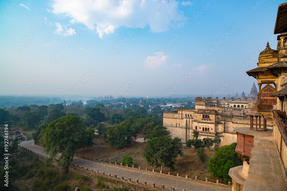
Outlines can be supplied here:
M148 56L144 61L144 68L156 69L166 64L166 59L169 57L164 52L154 53L156 56Z

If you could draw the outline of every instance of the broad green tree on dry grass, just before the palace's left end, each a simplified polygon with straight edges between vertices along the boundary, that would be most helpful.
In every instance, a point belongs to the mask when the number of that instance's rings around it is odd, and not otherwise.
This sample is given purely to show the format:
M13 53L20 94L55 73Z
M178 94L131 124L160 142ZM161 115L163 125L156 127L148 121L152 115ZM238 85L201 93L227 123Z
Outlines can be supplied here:
M143 157L151 166L169 168L174 170L174 163L176 158L183 156L181 148L181 138L174 137L174 139L164 136L155 137L146 142L143 149Z

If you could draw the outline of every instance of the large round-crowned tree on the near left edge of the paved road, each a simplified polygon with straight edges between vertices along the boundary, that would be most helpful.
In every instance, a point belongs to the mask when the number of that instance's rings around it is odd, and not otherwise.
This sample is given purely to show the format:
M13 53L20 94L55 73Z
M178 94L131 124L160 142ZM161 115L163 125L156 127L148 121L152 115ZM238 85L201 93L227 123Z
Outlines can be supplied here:
M44 152L64 169L63 173L69 172L69 163L73 161L73 154L82 144L85 130L80 117L63 116L51 121L49 126L41 131L40 145L44 147ZM56 159L58 153L61 153L61 156Z

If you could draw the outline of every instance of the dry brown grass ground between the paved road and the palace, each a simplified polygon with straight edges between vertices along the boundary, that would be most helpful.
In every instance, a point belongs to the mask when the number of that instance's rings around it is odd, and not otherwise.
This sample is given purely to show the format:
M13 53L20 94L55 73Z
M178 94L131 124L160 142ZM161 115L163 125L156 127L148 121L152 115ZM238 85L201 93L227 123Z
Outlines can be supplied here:
M155 168L150 166L147 162L144 161L142 157L142 149L145 147L144 143L132 143L124 149L119 147L110 146L109 142L105 142L104 139L94 138L93 147L86 149L77 150L77 154L84 155L88 157L93 157L120 163L123 160L124 155L128 155L133 158L133 164L135 166L141 166L142 168L147 167L149 169L156 169L157 172L160 171L160 168ZM194 148L182 147L183 148L183 157L178 157L175 167L177 168L176 173L188 174L189 177L200 176L202 178L212 178L212 175L207 171L208 163L205 163L205 168L201 162L198 161L197 151ZM214 150L208 151L205 149L208 154L208 157L211 158L214 156ZM164 172L172 172L167 168L163 168Z

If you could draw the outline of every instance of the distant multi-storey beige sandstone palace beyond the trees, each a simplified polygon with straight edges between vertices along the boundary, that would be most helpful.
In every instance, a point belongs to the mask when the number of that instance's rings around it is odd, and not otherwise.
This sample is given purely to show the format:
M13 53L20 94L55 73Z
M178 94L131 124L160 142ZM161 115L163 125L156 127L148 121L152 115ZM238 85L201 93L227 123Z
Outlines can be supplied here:
M168 128L173 137L182 138L183 143L187 139L192 139L193 131L196 130L199 131L199 138L203 142L206 137L219 136L221 145L231 144L236 142L236 132L233 131L235 127L250 126L251 120L248 113L252 111L257 93L253 83L248 97L245 97L244 92L241 98L236 96L235 99L234 97L231 99L196 97L195 109L179 107L177 111L165 112L163 125ZM253 123L256 123L256 119ZM263 118L260 124L264 124ZM271 123L267 123L268 127L272 128Z

